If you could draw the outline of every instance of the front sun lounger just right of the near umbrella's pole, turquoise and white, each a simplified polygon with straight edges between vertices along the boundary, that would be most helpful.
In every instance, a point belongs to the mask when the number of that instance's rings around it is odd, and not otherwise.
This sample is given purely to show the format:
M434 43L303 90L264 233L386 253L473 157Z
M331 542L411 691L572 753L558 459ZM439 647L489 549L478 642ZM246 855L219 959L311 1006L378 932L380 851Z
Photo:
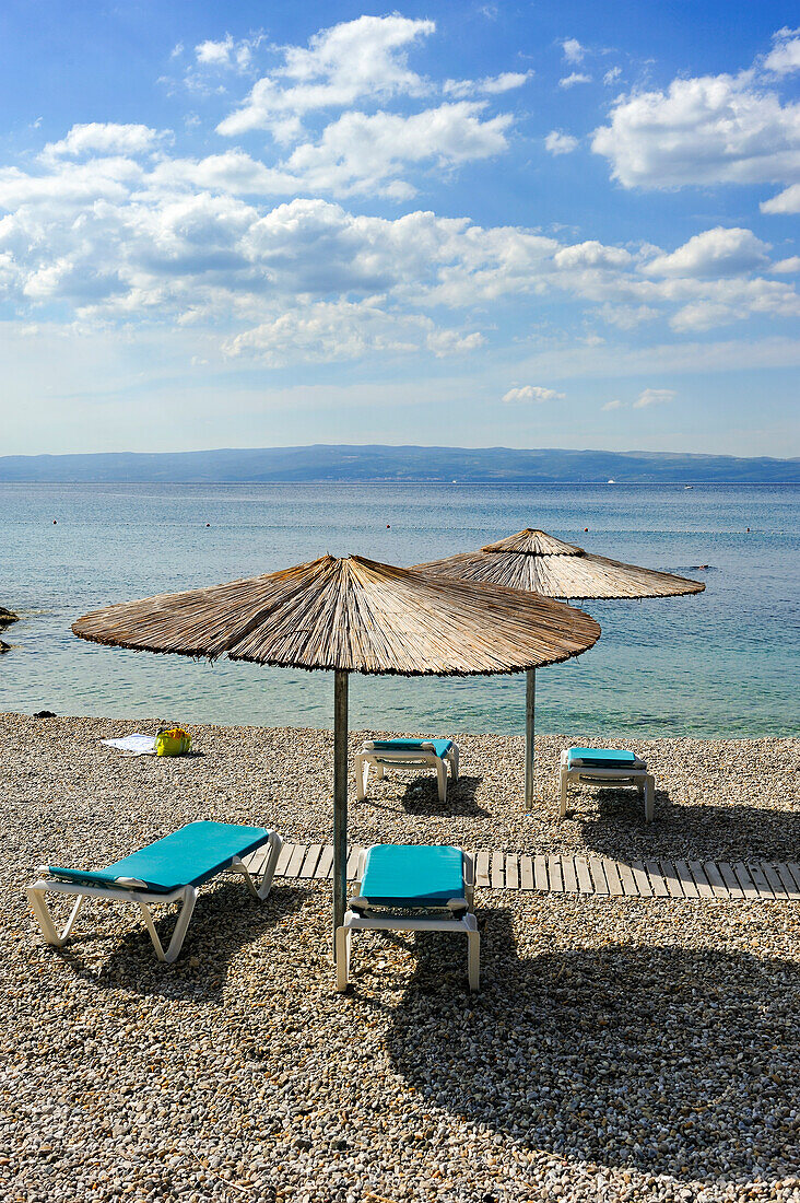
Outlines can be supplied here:
M379 843L361 853L356 897L336 931L337 989L346 990L354 931L451 931L467 936L469 989L480 973L472 857L448 846Z

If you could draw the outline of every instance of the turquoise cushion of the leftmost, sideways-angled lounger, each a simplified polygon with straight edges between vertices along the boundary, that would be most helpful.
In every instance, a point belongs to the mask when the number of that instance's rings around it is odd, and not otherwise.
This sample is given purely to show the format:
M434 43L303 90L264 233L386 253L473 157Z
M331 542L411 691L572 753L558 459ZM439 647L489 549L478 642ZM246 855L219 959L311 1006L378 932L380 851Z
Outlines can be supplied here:
M100 872L54 865L49 866L49 871L57 877L89 885L112 885L117 877L135 877L152 890L168 894L183 885L202 885L221 869L227 869L233 857L245 857L268 838L269 832L265 828L206 819L188 823Z

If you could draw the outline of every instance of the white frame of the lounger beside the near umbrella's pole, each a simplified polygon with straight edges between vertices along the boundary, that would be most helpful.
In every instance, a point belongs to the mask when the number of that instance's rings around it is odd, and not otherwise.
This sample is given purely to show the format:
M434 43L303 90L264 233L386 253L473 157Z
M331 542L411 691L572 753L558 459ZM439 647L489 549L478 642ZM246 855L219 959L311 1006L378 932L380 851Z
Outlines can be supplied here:
M367 859L368 848L365 848L358 857L358 881L356 883L356 895L361 890L361 878L363 877L365 863ZM342 994L348 988L350 980L350 943L354 931L450 931L455 935L464 935L467 937L467 976L469 978L469 989L475 991L479 988L480 980L480 932L478 931L478 920L475 919L474 912L474 893L475 893L475 865L473 858L468 852L463 853L464 858L464 897L467 900L467 913L457 915L452 912L452 903L450 905L450 917L442 915L437 918L435 915L426 915L422 918L415 918L413 913L397 913L392 912L391 908L386 908L386 912L379 911L367 911L361 914L356 911L348 909L344 915L344 923L340 928L336 929L336 988ZM455 903L457 900L452 900ZM425 909L434 909L426 907ZM442 907L443 911L448 907Z

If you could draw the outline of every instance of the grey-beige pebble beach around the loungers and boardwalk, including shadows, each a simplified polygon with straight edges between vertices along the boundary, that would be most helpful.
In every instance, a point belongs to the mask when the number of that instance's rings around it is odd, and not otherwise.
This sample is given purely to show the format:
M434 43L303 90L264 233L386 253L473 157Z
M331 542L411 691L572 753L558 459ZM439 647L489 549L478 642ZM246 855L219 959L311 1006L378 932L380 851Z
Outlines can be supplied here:
M796 902L479 890L474 996L461 941L372 932L336 994L318 882L255 905L218 878L171 966L108 902L46 947L38 864L100 867L200 818L330 842L330 733L192 727L168 760L100 743L177 718L0 716L4 1198L800 1199ZM627 739L656 774L645 825L633 790L576 789L558 822L575 735L537 740L528 812L521 739L446 734L446 802L426 777L363 802L351 781L354 842L798 859L798 740Z

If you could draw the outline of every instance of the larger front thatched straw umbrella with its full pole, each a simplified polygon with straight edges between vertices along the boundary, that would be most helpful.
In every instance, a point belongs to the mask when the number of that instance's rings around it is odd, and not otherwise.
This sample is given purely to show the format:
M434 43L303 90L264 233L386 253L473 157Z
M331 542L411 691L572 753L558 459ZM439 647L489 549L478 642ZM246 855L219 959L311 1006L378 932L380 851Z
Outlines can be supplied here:
M137 651L334 672L333 925L346 896L348 674L521 672L580 656L593 618L535 594L437 580L352 556L95 610L82 639Z

